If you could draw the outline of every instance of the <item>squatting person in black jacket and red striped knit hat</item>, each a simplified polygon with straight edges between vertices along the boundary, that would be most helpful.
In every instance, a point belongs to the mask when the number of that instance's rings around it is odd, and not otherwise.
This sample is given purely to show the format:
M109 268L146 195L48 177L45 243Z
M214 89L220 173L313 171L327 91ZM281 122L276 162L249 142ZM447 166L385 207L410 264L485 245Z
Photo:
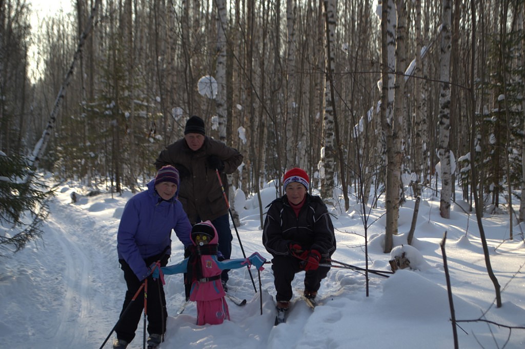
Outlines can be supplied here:
M273 256L277 309L286 310L293 295L295 274L305 271L304 296L314 299L326 278L335 251L335 234L326 205L308 193L308 174L293 168L285 173L286 194L270 203L262 230L262 244Z

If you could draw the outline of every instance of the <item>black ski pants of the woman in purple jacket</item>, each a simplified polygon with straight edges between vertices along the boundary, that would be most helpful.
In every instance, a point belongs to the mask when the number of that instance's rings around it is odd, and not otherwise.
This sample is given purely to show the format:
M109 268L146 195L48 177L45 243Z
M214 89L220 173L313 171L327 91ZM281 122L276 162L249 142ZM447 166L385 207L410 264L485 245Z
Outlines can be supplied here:
M161 266L166 266L169 258L169 255L164 255L161 259ZM151 263L156 260L158 260L158 257L154 256L153 258L146 259L145 262L146 265L151 265ZM139 325L142 311L144 310L144 290L139 293L133 302L131 302L131 300L144 281L148 282L148 304L146 305L148 307L147 331L149 334L164 334L164 332L166 332L167 311L166 296L161 280L153 280L150 275L145 280L140 281L128 263L122 259L120 259L119 262L124 272L124 279L128 285L128 290L124 297L124 304L122 304L120 320L115 328L117 338L130 343L135 337L135 331L137 331L137 326ZM128 305L129 309L124 314Z

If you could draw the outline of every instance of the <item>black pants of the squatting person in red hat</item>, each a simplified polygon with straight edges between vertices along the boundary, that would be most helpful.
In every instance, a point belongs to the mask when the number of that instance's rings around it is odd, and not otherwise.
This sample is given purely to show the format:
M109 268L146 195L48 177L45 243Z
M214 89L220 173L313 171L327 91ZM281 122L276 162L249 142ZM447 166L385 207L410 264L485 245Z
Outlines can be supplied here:
M274 256L271 260L271 269L274 271L274 284L277 290L276 300L289 301L292 299L292 281L295 274L304 269L300 268L301 261L293 256ZM322 260L321 260L321 263ZM321 280L327 277L329 266L320 266L316 270L309 270L304 273L304 289L308 291L318 291L321 287Z

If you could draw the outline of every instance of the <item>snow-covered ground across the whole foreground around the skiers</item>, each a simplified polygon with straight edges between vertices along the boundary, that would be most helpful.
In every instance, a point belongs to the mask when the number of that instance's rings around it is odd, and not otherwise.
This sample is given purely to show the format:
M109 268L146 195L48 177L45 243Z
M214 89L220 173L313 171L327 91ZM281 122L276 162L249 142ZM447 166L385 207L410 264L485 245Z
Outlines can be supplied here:
M44 237L11 258L0 260L0 347L98 348L118 320L125 292L119 269L116 235L125 202L131 197L102 193L71 202L77 183L59 187L50 203ZM238 228L247 255L258 251L269 258L261 244L259 208L255 198L236 195L241 225ZM275 198L275 189L262 191L263 207ZM241 207L239 207L241 206ZM406 244L414 202L401 209L394 244ZM338 249L333 259L364 266L364 228L359 207L348 213L333 211ZM390 254L382 252L384 209L370 215L369 268L390 271ZM485 319L504 326L525 326L525 245L520 227L509 237L507 215L484 218L490 261L501 285L502 307L494 303L495 291L486 271L485 258L474 214L453 204L451 218L439 217L439 198L422 198L415 231L415 250L407 250L419 270L400 270L390 278L370 274L369 296L364 275L333 268L322 283L320 305L311 310L295 298L285 324L274 326L275 310L271 266L260 273L252 269L257 293L247 269L230 272L230 293L247 299L243 307L229 303L231 321L197 326L195 304L183 304L181 275L166 276L169 319L162 348L405 348L450 349L453 330L439 243L447 231L446 254L454 292L457 320ZM233 256L241 257L235 229ZM523 227L521 228L523 229ZM398 248L399 249L399 248ZM396 249L396 250L398 250ZM182 245L173 242L171 263L183 258ZM296 297L303 275L296 275ZM260 314L262 299L262 315ZM129 348L141 348L142 319ZM460 348L525 347L525 330L487 322L459 324ZM114 334L106 344L111 347Z

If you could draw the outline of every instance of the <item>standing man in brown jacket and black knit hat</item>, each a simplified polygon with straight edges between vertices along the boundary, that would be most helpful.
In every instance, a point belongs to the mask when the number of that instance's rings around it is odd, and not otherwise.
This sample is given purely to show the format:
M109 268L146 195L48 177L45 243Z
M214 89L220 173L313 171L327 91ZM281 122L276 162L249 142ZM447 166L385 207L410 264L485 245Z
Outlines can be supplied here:
M232 255L232 230L228 207L215 170L220 173L224 190L228 192L227 173L233 173L243 162L243 155L223 142L206 137L204 121L192 116L186 121L184 138L162 150L155 167L174 166L180 174L178 200L193 224L209 220L218 234L218 250L225 259ZM228 271L221 275L226 288Z

